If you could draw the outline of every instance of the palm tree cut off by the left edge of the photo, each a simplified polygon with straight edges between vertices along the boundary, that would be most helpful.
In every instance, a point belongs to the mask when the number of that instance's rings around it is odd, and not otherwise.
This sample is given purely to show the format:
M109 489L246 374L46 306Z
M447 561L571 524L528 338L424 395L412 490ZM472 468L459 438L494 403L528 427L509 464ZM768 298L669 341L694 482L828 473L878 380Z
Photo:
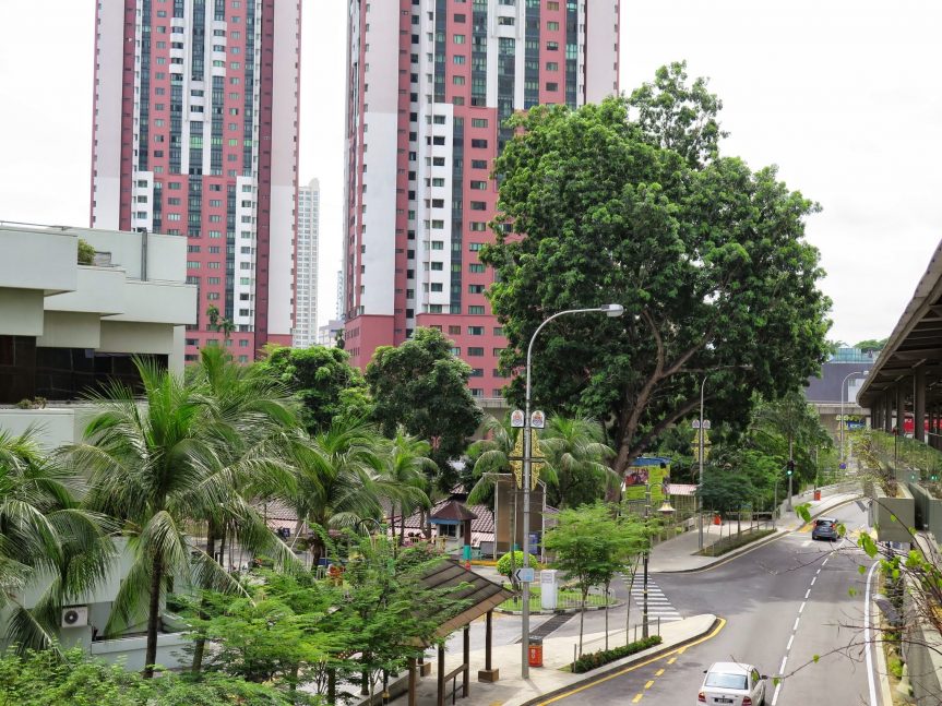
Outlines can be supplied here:
M21 649L55 643L59 611L105 578L114 546L109 523L79 507L74 474L39 451L33 429L0 431L0 609ZM51 578L51 581L49 581ZM26 609L24 589L47 581Z

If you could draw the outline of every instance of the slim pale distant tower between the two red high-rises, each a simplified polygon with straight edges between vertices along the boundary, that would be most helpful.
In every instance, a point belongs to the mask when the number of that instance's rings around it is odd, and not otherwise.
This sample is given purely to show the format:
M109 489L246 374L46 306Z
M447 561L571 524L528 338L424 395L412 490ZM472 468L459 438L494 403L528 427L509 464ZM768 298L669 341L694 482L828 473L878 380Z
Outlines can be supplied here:
M298 246L295 260L295 348L318 343L318 228L321 186L311 179L298 191Z

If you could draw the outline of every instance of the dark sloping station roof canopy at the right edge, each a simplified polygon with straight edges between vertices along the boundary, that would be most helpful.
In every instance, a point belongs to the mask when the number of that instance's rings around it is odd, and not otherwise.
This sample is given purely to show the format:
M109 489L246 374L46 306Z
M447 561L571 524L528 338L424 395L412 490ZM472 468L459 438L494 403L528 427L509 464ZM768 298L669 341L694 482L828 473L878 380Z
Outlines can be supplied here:
M911 380L920 366L926 372L927 406L942 402L942 241L880 357L870 367L858 403L874 407L884 394L895 394L898 382Z

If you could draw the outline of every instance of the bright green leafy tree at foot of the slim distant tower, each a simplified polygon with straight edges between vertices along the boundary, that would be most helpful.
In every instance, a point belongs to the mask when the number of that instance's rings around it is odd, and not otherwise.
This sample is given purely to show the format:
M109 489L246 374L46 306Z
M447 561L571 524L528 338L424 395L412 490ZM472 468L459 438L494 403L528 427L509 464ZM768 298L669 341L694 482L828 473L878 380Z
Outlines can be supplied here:
M267 348L255 366L295 393L308 431L319 433L341 416L366 417L372 410L362 373L341 348Z

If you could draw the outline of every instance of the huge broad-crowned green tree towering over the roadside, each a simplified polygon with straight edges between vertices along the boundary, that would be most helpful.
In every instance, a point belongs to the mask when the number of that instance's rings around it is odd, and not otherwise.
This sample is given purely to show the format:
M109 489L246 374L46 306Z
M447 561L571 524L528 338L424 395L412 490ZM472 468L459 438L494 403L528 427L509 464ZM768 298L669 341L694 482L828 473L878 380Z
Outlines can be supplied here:
M552 313L623 304L620 319L555 321L533 370L538 406L606 421L619 472L697 409L704 374L712 420L744 423L753 390L799 387L826 350L830 302L803 237L818 206L774 167L722 156L720 103L687 84L672 64L629 99L533 108L494 168L498 234L481 260L501 364L520 370Z

